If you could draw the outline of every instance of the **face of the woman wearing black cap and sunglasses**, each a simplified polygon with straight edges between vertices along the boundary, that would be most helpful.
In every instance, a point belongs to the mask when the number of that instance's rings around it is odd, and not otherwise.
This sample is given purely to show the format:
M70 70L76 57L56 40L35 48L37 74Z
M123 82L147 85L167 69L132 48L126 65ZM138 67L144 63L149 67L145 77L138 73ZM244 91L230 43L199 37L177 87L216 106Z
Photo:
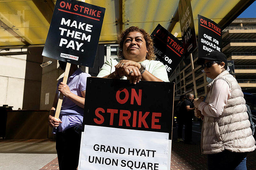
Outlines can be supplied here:
M204 60L204 64L212 61L213 60ZM206 73L206 76L211 79L215 79L222 72L222 68L224 67L223 64L225 65L224 62L222 62L221 64L214 63L210 68L205 67L204 72Z

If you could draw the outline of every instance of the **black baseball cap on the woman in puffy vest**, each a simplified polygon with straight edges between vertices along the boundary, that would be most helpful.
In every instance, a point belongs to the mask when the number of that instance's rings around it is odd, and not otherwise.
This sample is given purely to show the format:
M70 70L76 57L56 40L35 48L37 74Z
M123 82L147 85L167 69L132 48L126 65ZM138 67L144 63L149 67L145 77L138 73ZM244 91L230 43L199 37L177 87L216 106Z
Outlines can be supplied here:
M198 65L203 65L205 59L206 60L221 61L221 62L224 62L226 66L228 66L228 61L227 61L226 55L219 52L219 51L212 51L212 52L206 54L204 57L199 57L197 59L197 64Z

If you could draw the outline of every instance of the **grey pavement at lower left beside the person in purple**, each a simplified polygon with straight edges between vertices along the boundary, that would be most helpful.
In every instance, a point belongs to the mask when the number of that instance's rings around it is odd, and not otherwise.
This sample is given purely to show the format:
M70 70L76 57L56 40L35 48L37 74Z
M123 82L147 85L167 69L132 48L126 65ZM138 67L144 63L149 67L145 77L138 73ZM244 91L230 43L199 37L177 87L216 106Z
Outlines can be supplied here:
M56 157L49 139L0 139L0 170L37 170Z

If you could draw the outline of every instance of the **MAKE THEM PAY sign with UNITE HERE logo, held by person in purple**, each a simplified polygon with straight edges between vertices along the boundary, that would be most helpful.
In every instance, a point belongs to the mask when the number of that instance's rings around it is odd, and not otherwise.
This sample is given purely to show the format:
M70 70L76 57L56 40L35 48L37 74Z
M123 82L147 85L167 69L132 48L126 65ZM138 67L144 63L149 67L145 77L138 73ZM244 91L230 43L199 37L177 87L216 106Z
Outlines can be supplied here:
M93 67L105 8L57 0L43 56Z

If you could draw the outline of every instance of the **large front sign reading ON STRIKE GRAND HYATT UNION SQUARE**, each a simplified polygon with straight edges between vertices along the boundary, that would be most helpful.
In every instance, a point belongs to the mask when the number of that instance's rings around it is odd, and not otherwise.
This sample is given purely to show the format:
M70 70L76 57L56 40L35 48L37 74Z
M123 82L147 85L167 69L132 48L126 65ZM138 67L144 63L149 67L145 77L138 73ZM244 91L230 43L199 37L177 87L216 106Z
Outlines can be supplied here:
M174 83L88 77L79 168L170 169L173 97Z

